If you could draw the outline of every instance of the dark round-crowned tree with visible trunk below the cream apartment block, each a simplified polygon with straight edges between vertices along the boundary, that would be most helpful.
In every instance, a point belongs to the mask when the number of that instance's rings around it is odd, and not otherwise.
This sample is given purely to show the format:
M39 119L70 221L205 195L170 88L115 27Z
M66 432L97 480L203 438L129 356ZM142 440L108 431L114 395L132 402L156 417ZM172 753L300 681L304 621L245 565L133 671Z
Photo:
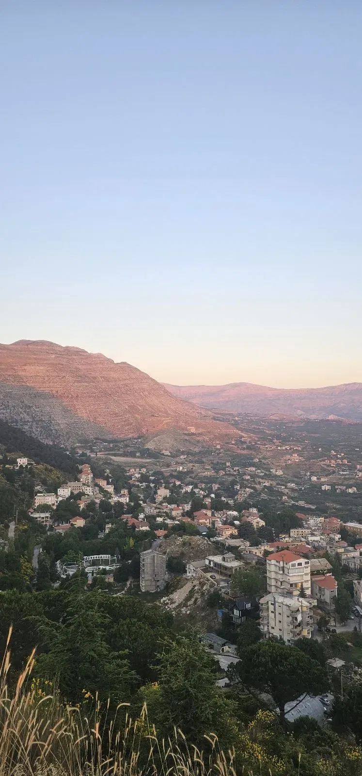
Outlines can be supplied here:
M250 646L243 660L236 663L236 669L248 688L272 695L281 722L284 722L286 703L296 701L301 695L317 695L328 687L326 670L316 660L295 646L279 641L267 640Z

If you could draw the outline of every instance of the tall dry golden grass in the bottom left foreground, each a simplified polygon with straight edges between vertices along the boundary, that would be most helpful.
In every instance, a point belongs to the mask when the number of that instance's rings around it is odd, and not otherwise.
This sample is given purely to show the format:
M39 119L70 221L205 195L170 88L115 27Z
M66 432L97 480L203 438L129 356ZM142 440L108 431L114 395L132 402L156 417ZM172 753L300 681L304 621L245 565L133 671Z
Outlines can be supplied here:
M123 708L122 729L101 722L97 702L88 715L86 705L62 704L53 684L32 681L33 666L34 653L10 691L8 649L2 660L0 776L235 776L233 753L226 757L216 739L208 739L208 756L180 731L172 742L159 740L146 708L134 722Z

